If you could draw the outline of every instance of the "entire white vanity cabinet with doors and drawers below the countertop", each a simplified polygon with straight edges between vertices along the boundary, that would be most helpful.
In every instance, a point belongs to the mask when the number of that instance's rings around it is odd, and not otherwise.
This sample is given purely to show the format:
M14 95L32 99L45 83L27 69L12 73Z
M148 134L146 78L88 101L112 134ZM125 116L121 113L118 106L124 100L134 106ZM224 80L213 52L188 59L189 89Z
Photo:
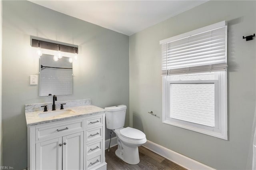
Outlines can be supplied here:
M105 114L28 126L28 169L106 170Z

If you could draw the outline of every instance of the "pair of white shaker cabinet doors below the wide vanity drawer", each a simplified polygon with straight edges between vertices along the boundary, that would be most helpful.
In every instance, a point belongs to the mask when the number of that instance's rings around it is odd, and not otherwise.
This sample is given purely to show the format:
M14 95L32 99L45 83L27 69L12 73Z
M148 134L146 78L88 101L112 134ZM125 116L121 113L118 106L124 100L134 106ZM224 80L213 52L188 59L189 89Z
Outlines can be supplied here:
M83 132L36 143L36 170L83 170Z

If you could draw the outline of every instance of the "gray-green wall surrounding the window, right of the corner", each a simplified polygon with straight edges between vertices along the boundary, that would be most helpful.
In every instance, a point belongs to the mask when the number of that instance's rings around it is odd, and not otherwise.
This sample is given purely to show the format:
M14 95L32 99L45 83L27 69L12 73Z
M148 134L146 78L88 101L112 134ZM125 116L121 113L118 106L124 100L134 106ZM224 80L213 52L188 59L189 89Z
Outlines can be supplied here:
M159 41L228 22L228 140L162 123ZM255 109L256 1L209 1L130 36L130 125L147 139L213 168L246 168ZM153 111L160 118L151 116Z

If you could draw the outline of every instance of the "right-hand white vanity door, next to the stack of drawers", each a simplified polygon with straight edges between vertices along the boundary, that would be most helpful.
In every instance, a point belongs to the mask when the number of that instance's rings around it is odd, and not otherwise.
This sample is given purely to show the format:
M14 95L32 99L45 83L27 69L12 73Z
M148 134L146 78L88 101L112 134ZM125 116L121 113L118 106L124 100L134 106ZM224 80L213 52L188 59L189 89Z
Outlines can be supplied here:
M84 133L79 132L62 137L63 170L84 169Z

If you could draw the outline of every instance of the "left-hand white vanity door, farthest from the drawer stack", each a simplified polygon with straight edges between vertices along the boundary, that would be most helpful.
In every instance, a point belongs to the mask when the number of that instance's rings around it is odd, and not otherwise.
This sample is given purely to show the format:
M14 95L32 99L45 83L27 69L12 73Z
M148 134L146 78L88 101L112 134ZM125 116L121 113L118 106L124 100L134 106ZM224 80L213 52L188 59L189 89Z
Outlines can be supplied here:
M62 137L36 144L36 170L62 170Z

